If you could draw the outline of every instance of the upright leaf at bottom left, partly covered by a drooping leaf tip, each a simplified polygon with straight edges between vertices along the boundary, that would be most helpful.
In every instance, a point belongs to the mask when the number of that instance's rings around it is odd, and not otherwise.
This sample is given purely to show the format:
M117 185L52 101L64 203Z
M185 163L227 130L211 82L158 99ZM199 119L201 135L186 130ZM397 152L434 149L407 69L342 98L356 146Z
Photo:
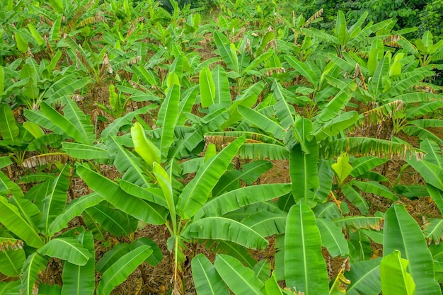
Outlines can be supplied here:
M94 239L90 231L79 235L79 242L89 250L91 257L86 265L80 266L65 262L63 266L62 295L93 295L96 289Z

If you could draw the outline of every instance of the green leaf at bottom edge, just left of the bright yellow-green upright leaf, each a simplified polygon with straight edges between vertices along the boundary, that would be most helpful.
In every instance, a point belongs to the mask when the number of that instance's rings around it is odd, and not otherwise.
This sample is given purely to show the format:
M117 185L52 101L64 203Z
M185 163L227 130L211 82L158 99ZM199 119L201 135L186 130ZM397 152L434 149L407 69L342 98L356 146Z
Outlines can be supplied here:
M354 262L345 277L351 281L346 294L378 295L381 291L380 267L381 258Z

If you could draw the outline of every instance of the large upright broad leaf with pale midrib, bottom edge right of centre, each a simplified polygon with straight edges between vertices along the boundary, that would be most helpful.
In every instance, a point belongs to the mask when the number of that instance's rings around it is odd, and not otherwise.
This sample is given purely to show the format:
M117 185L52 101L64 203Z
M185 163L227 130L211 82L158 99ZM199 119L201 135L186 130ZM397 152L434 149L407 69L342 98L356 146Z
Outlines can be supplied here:
M329 294L328 272L321 253L316 217L307 204L288 213L284 238L284 279L289 288L304 294Z

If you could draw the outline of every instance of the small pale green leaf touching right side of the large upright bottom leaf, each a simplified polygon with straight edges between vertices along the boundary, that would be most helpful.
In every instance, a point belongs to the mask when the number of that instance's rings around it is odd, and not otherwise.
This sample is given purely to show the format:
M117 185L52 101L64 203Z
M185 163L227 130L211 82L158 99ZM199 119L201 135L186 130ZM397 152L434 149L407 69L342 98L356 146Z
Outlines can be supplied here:
M336 226L330 219L316 219L318 231L320 231L321 243L328 249L332 257L349 255L349 247L342 229Z

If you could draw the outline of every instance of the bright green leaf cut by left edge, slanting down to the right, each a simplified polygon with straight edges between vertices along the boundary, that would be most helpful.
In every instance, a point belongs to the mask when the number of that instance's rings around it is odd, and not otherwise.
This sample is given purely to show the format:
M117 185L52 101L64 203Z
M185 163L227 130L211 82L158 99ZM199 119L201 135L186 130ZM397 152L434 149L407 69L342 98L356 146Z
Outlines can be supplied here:
M1 196L0 212L0 222L6 229L21 238L31 247L40 248L43 245L42 238L40 238L35 228L23 219L16 206L8 204L7 199Z

